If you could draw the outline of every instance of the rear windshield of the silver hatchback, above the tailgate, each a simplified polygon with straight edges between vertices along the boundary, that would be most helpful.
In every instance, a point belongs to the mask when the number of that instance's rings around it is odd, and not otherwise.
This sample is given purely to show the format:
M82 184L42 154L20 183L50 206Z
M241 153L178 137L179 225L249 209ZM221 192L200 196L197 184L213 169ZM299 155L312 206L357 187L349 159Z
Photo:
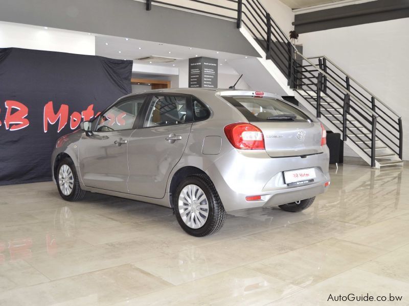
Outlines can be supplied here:
M239 110L248 121L276 121L271 118L277 115L295 115L291 121L312 121L302 111L283 101L272 97L255 96L223 96L223 98Z

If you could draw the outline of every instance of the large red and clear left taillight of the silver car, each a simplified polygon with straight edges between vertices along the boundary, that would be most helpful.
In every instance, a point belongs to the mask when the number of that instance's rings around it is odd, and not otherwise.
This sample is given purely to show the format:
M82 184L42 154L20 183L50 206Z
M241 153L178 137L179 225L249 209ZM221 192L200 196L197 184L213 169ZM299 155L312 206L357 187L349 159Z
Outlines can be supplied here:
M224 127L224 134L236 149L264 150L263 132L250 123L232 123Z

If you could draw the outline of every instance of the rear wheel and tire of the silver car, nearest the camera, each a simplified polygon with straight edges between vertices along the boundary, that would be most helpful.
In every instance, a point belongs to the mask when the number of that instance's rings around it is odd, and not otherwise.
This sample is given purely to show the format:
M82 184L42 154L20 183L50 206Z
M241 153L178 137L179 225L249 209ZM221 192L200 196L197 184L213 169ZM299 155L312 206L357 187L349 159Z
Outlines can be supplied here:
M173 194L173 208L180 227L196 237L218 232L226 218L216 187L205 174L191 175L180 182Z

